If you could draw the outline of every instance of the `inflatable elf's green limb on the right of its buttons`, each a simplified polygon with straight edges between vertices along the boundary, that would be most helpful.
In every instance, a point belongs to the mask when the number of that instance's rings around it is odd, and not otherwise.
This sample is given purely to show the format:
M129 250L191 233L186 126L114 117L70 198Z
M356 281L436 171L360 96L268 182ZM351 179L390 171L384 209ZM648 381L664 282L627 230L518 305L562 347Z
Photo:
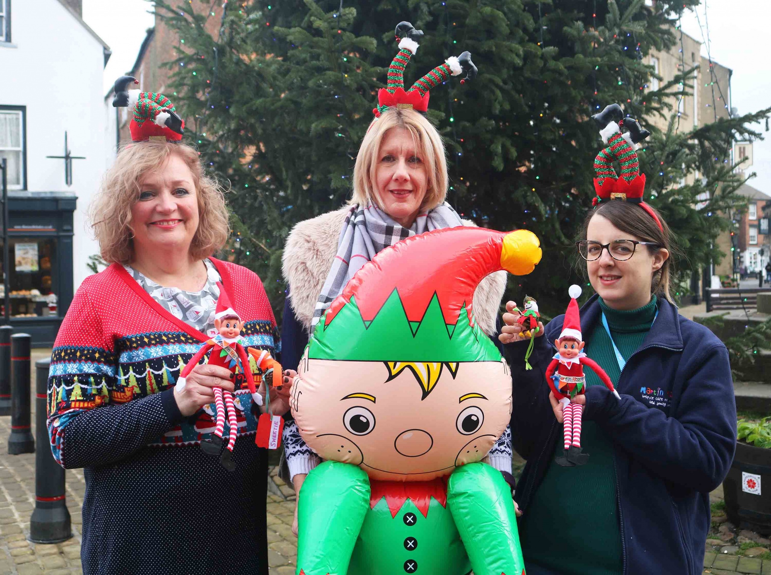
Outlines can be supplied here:
M474 575L523 575L517 516L500 471L486 463L457 468L449 476L447 507Z

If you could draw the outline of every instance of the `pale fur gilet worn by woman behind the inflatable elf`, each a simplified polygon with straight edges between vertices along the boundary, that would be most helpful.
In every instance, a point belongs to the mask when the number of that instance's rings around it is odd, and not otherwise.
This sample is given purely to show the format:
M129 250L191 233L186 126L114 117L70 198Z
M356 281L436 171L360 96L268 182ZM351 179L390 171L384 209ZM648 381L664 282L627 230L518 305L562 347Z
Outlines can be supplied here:
M291 308L308 334L316 300L335 259L340 229L347 213L348 206L344 206L301 221L292 228L284 245L282 269L289 284ZM463 224L476 227L471 220L463 220ZM495 322L505 289L506 272L497 271L485 277L474 292L474 318L487 335L495 335Z

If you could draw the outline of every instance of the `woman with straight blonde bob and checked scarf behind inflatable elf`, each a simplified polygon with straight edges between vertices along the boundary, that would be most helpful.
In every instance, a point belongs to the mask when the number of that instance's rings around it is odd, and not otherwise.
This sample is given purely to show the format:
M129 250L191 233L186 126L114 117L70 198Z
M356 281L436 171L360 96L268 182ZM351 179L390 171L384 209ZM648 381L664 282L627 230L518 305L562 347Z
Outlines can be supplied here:
M392 106L372 120L356 157L348 205L297 224L284 247L283 271L289 285L281 331L284 367L297 367L313 326L348 280L379 251L425 231L475 225L446 203L447 186L444 144L425 116ZM485 278L474 295L476 321L491 337L505 287L505 272L499 272ZM286 383L294 375L288 372ZM295 422L284 426L284 448L291 482L299 493L305 476L320 460L305 445ZM510 474L508 429L490 452L490 463ZM296 533L296 509L293 529Z

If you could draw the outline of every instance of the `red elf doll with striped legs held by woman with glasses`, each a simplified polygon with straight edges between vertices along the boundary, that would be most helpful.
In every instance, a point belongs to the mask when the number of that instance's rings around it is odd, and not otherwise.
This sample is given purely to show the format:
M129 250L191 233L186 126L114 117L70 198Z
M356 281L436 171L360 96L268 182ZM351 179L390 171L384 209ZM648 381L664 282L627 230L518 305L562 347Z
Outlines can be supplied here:
M583 465L589 458L587 453L581 453L581 413L584 406L573 401L576 395L586 392L584 365L596 373L616 397L618 392L603 368L584 353L581 316L576 301L581 296L581 287L571 285L567 292L571 296L571 303L567 305L560 337L554 340L557 353L546 370L546 381L554 397L562 404L565 450L554 460L561 466L571 467Z

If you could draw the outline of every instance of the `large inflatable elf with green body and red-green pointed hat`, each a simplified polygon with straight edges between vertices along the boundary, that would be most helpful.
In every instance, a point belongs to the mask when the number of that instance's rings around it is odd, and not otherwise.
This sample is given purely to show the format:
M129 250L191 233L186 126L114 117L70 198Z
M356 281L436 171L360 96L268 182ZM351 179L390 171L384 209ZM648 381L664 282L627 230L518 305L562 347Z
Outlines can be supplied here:
M332 302L291 390L326 460L299 495L297 573L524 573L510 487L481 462L510 420L511 376L471 302L483 277L540 257L526 230L433 230Z

